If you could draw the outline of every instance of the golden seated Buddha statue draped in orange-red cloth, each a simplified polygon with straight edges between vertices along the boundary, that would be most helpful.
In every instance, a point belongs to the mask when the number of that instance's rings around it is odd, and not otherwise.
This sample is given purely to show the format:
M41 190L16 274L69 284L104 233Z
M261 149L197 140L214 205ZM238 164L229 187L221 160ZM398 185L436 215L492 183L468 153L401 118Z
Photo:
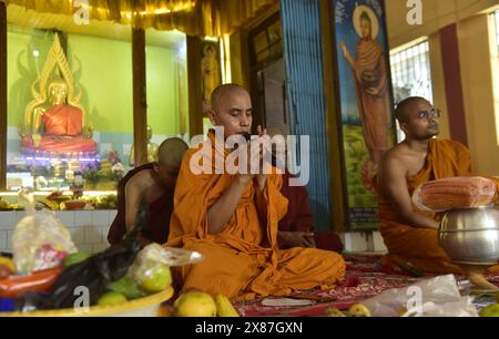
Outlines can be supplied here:
M23 151L96 153L96 143L83 131L83 111L67 104L68 85L55 80L49 85L49 106L33 112L32 134L23 137Z

